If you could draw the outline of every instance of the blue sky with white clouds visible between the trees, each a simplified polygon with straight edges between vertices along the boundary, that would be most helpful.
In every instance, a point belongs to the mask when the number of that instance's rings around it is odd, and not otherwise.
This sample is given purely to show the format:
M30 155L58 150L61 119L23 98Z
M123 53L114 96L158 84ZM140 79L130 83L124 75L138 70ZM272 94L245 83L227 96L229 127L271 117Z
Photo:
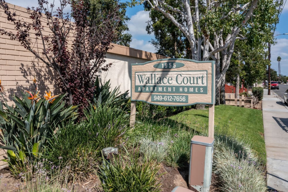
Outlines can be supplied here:
M21 7L32 7L33 5L37 5L37 0L6 0L6 2ZM57 2L57 0L55 2ZM130 18L130 21L128 22L129 33L132 35L130 47L148 52L155 52L155 47L149 43L154 35L147 35L145 30L147 25L146 22L149 20L149 13L144 11L143 5L132 8L128 7L126 14ZM283 33L288 33L288 3L285 4L279 23L276 25L275 35ZM288 35L279 35L276 37L276 41L276 45L271 46L271 68L278 73L277 57L280 56L281 74L288 76Z

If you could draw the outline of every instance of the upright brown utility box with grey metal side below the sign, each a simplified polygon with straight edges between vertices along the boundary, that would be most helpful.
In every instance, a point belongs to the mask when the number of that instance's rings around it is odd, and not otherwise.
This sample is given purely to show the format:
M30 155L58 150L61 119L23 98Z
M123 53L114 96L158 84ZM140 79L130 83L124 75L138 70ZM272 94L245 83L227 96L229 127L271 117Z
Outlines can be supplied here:
M214 138L195 135L191 139L188 184L199 192L209 192Z

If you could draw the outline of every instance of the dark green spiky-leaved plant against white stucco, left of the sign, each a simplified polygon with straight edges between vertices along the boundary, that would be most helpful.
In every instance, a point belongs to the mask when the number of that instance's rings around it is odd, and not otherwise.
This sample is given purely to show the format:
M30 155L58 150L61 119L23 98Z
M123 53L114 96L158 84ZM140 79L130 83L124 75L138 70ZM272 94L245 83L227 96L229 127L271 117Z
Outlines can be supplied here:
M93 97L94 104L105 104L115 108L119 107L120 109L127 110L127 102L129 101L128 91L120 94L120 86L110 91L110 79L103 85L98 76L96 77L94 85L96 87Z

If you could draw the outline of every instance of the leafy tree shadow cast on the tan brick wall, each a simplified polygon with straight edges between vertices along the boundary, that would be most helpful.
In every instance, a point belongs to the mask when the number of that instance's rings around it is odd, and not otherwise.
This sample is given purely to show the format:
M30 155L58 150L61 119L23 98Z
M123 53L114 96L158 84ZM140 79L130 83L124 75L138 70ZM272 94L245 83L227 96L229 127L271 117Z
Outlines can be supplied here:
M60 89L58 88L57 73L48 66L43 66L39 62L32 62L32 66L25 66L23 63L20 64L21 75L20 79L16 81L16 84L12 88L7 89L8 98L7 100L12 100L12 96L22 96L24 90L35 92L35 87L33 85L33 79L35 77L37 82L37 90L40 92L41 96L44 96L45 91L51 91L53 94L59 94ZM24 81L24 82L23 82ZM49 86L50 85L50 86Z

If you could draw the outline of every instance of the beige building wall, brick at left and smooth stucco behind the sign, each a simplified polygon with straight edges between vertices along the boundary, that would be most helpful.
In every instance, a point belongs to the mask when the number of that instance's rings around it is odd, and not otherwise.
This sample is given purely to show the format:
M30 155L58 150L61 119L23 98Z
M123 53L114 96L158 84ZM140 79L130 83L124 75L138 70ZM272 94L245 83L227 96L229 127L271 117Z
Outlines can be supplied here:
M21 17L24 21L31 22L26 13L26 8L8 4L11 12ZM0 27L8 31L14 32L14 26L8 22L3 10L0 10ZM48 31L48 28L46 28ZM41 46L40 46L41 48ZM111 79L111 87L114 88L120 85L122 92L130 90L130 64L142 63L149 60L165 58L157 54L145 52L129 47L114 44L114 48L107 53L108 63L113 63L111 69L107 72L100 72L99 75L102 81ZM21 96L22 90L34 90L32 85L33 78L36 78L38 89L41 95L45 91L51 91L53 94L60 92L56 79L57 74L53 69L46 66L43 62L39 62L24 47L20 46L18 41L12 41L5 35L0 36L0 80L5 91L3 95L8 104L12 104L11 95ZM1 98L3 101L3 98ZM5 152L0 150L0 159L3 159ZM5 156L5 154L4 154ZM0 169L4 163L0 161Z

